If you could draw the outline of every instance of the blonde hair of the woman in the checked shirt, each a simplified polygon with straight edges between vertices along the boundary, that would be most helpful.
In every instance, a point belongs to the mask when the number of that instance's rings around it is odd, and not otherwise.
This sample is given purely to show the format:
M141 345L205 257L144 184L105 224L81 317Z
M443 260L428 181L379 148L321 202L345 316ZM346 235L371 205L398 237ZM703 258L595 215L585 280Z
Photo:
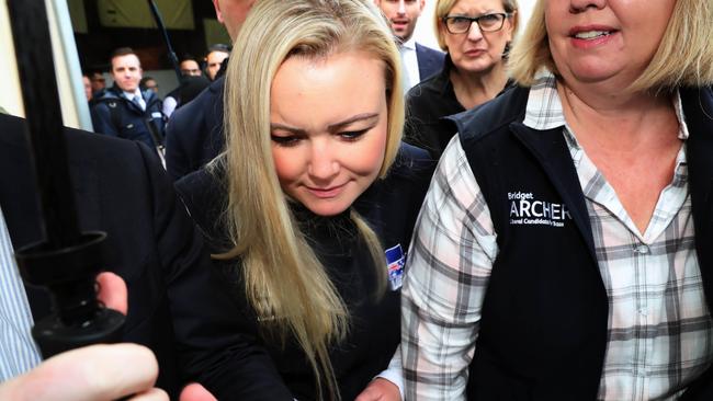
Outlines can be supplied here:
M545 26L545 1L537 0L528 27L510 51L510 76L530 87L541 68L557 75ZM713 2L678 0L653 59L629 90L713 84Z

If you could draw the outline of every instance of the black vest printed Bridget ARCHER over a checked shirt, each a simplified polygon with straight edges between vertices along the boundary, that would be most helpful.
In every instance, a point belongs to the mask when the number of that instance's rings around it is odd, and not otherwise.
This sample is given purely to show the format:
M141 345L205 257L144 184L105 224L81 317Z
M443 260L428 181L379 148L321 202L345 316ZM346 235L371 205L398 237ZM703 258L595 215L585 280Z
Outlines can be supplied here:
M452 117L490 209L499 248L484 298L467 396L595 400L609 303L562 128L540 131L524 126L528 94L528 89L514 88ZM713 310L711 247L706 248L713 228L713 93L682 90L681 96L690 131L687 158L695 247ZM713 393L711 370L690 388L690 399Z

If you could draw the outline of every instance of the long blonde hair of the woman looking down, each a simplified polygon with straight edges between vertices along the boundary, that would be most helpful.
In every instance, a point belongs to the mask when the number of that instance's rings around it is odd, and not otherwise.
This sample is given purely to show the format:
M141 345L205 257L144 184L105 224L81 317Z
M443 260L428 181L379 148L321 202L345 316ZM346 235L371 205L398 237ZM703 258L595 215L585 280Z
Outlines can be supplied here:
M240 259L247 299L260 328L283 345L294 336L315 373L318 397L324 398L324 378L329 397L338 399L328 346L346 335L349 312L280 187L271 151L270 89L290 57L320 59L361 50L381 60L388 107L383 177L398 151L404 124L398 49L372 0L260 0L234 48L236 57L230 59L225 84L224 160L226 220L235 245L215 257ZM381 243L353 209L351 217L374 260L380 277L376 294L383 294L386 270Z

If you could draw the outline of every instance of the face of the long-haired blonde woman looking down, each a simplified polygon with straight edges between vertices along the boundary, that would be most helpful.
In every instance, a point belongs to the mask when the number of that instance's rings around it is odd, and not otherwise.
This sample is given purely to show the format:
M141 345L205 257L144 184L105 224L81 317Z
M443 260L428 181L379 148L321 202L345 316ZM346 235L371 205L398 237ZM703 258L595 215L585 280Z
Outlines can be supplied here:
M288 58L270 92L282 191L319 216L347 210L384 163L387 117L381 60L365 53Z

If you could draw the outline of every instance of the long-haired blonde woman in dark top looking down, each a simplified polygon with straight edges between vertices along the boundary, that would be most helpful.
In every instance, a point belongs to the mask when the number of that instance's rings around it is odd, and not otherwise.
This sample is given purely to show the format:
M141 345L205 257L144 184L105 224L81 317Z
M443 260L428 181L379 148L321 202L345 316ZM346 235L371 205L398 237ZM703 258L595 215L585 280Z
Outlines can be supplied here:
M400 371L385 370L432 165L400 145L388 25L371 0L261 0L235 48L226 151L178 187L230 283L244 334L270 354L246 363L271 386L236 380L226 391L222 374L203 383L219 399L353 400L370 383L398 398Z

